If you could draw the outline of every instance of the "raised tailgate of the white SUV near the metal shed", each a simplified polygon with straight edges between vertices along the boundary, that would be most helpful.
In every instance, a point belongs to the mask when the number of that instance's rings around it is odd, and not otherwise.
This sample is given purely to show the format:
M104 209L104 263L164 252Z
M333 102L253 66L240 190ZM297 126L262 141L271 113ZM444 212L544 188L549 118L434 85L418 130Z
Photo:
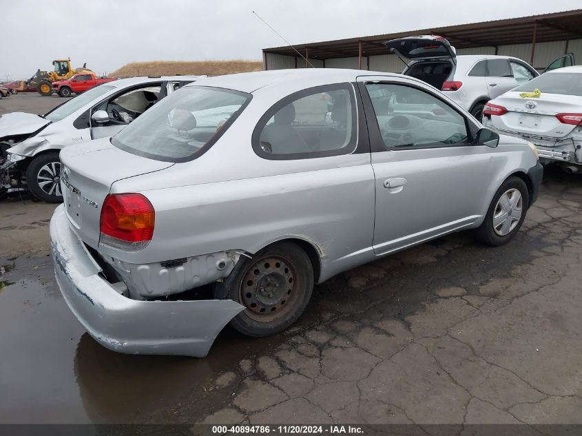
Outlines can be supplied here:
M457 58L455 48L446 39L436 35L391 39L385 41L384 45L406 63L422 59L448 59L455 63Z

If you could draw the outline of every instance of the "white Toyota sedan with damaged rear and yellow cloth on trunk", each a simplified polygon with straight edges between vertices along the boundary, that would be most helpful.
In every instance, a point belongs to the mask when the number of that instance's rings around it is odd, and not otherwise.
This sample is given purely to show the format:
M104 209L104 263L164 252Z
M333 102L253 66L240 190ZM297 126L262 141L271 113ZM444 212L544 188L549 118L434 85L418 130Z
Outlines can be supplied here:
M582 67L542 74L495 98L485 106L483 123L532 141L542 163L582 173Z

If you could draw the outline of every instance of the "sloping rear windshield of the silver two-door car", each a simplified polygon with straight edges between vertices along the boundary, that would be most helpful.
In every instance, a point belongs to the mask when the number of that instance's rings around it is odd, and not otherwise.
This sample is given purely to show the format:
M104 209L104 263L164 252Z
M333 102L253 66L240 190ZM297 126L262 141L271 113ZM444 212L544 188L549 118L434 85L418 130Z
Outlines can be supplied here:
M112 143L138 156L185 162L209 149L250 100L245 92L183 87L121 130Z

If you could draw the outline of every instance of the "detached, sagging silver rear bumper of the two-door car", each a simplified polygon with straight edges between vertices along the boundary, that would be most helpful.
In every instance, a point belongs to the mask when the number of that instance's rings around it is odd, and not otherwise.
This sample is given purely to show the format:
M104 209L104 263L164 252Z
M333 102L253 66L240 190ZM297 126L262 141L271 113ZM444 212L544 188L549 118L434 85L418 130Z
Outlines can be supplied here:
M121 353L204 357L222 328L244 309L232 300L138 301L121 295L70 229L63 206L50 221L56 282L87 332Z

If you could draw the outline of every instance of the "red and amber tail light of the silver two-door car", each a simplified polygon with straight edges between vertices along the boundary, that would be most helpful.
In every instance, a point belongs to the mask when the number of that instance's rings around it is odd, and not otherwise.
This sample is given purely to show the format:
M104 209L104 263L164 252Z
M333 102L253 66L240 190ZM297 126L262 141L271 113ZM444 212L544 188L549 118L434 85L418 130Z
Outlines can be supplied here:
M154 235L155 211L141 194L110 194L101 208L99 243L135 251L149 244Z

